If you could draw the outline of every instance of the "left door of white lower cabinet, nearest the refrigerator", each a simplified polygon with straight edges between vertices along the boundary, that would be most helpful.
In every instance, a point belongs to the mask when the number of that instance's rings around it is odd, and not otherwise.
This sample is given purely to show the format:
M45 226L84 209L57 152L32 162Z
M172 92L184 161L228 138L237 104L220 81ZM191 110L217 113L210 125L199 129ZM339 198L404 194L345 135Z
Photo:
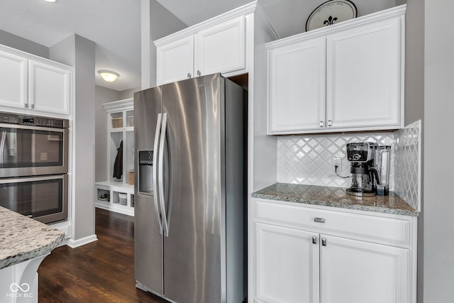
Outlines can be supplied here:
M269 224L255 226L258 302L319 302L319 234Z

